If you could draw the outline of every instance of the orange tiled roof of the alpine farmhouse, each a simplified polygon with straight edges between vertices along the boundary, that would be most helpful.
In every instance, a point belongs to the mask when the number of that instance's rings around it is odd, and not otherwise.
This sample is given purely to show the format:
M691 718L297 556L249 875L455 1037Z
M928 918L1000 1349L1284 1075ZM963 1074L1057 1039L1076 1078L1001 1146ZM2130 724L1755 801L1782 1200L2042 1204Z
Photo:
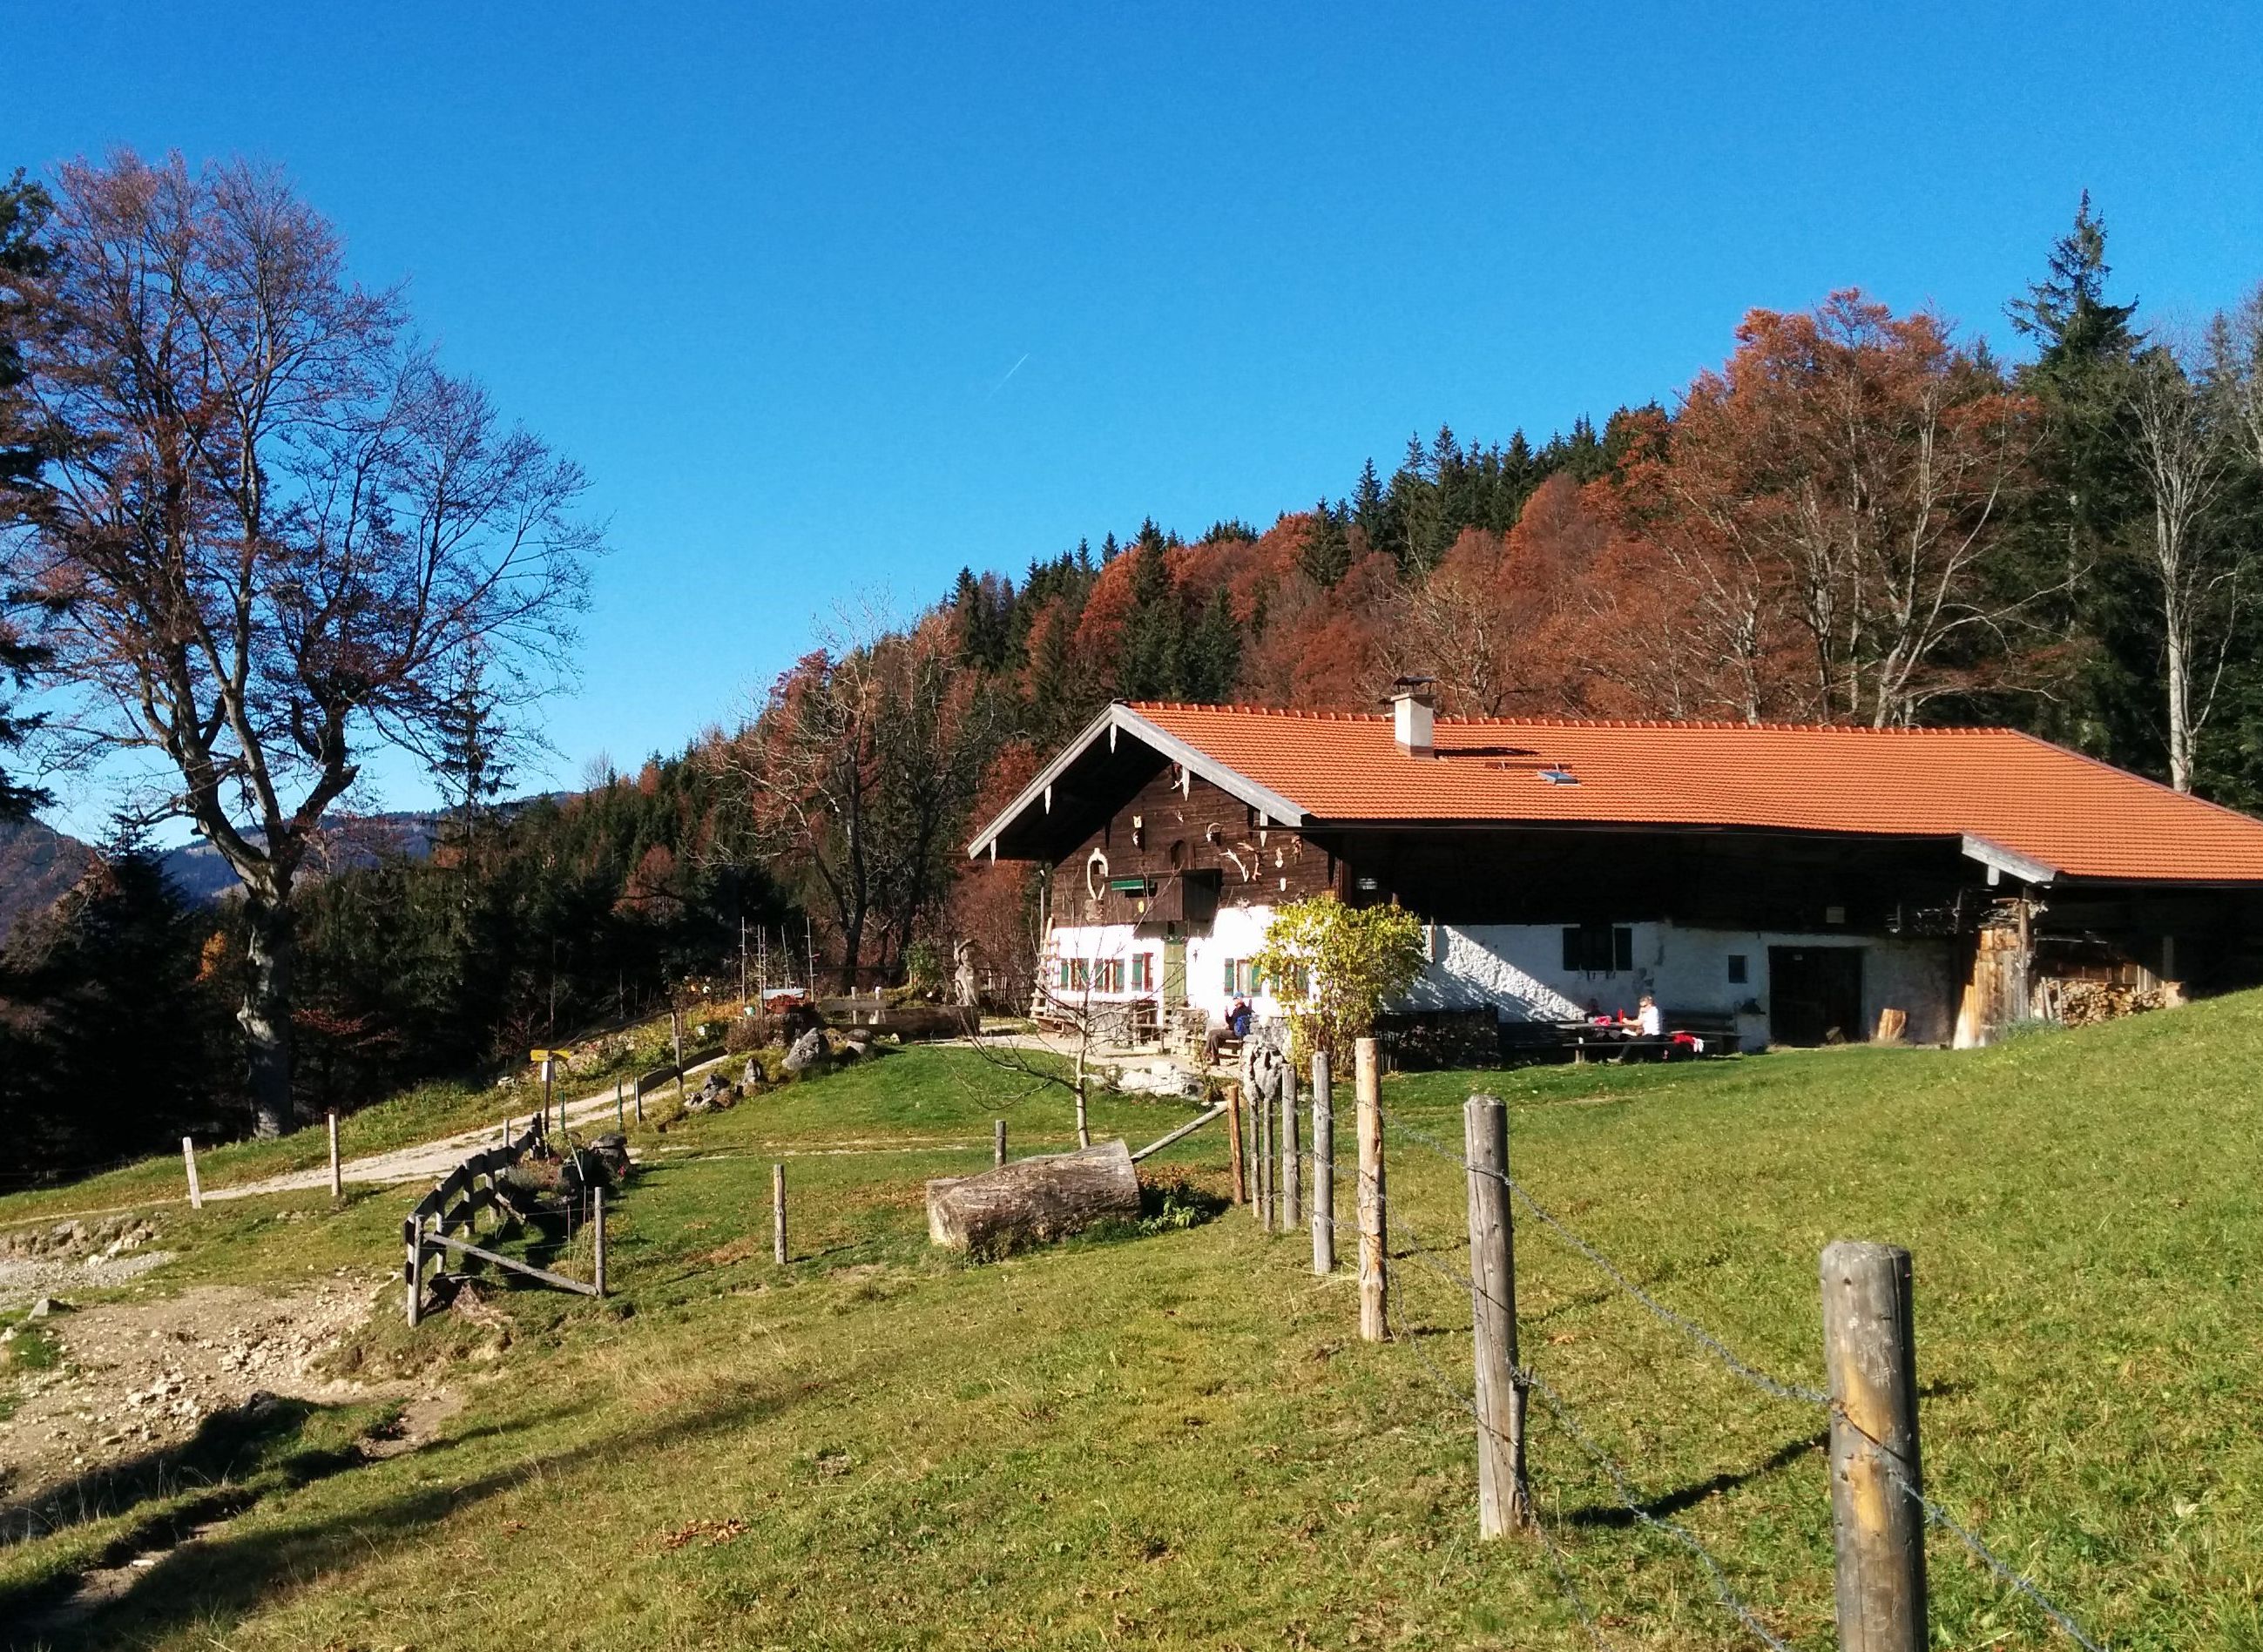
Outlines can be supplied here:
M1132 711L1319 821L1973 835L2075 878L2263 883L2263 821L2012 729L1439 717L1417 758L1389 715Z

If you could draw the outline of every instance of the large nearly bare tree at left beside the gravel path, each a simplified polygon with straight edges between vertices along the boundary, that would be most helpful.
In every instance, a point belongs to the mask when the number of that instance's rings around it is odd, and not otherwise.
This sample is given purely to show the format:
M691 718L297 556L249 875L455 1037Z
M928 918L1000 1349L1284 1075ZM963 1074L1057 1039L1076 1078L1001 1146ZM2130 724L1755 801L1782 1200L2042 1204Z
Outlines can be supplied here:
M54 434L14 588L86 740L161 754L145 810L244 885L260 1134L290 1120L292 887L373 745L430 756L473 659L527 704L568 659L582 471L355 285L272 170L59 174L25 351ZM59 720L63 722L63 720Z

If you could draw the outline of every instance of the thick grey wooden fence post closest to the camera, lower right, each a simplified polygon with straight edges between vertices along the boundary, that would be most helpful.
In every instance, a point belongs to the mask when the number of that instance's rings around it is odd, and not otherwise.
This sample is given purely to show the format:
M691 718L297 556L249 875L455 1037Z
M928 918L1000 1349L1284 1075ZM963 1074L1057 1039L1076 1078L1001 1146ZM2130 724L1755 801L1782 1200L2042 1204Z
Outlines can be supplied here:
M1824 1247L1831 1371L1831 1541L1840 1652L1924 1652L1926 1512L1917 1457L1910 1254Z

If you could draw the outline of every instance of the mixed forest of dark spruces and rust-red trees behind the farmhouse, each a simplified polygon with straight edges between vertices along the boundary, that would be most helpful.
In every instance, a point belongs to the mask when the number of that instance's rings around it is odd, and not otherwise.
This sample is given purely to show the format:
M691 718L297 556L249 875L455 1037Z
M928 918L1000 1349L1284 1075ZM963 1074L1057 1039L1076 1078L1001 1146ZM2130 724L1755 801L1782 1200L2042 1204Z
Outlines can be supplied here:
M0 206L23 328L45 204ZM2132 290L2084 199L1996 342L1856 290L1754 310L1690 385L1546 441L1439 428L1265 527L1095 525L962 570L817 636L745 726L570 794L505 801L523 724L473 670L428 720L432 853L349 855L290 901L292 1102L502 1070L735 984L754 944L871 989L973 937L1012 982L1030 889L971 867L969 831L1109 699L1371 711L1412 672L1448 715L1989 722L2258 808L2263 290L2200 324ZM5 405L29 369L0 346ZM7 437L38 527L38 444ZM32 631L0 649L48 665ZM38 801L20 772L0 799ZM238 1003L272 917L190 903L122 821L14 928L0 1122L34 1175L251 1127ZM131 1100L57 1104L79 1093Z

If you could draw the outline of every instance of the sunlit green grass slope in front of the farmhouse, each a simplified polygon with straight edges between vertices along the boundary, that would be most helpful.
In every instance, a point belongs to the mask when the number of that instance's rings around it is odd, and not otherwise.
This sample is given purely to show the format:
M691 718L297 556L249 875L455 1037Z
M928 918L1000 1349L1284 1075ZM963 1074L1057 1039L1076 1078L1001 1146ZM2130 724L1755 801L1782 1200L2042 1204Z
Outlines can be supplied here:
M1978 1055L1394 1077L1394 1249L1464 1260L1460 1170L1410 1132L1457 1143L1473 1086L1512 1102L1534 1197L1799 1383L1822 1380L1822 1245L1903 1242L1933 1494L2114 1647L2263 1647L2258 1070L2263 996ZM1469 1303L1421 1258L1396 1267L1405 1335L1367 1346L1349 1270L1315 1281L1301 1236L1240 1211L932 1254L919 1184L987 1163L993 1116L1016 1152L1066 1141L1064 1098L1021 1089L921 1050L640 1132L611 1301L511 1294L489 1360L459 1358L489 1333L455 1317L380 1322L364 1369L423 1360L466 1392L441 1439L267 1469L84 1645L1591 1645L1546 1550L1475 1539L1471 1423L1437 1387L1466 1383ZM1184 1116L1109 1098L1095 1125L1138 1145ZM1143 1165L1211 1190L1222 1168L1215 1129ZM380 1270L410 1197L170 1211L183 1256L145 1288ZM1647 1507L1779 1636L1829 1647L1822 1417L1532 1222L1518 1297L1528 1358ZM1756 1645L1534 1412L1534 1489L1607 1641ZM294 1423L321 1426L344 1412ZM0 1550L0 1625L84 1541ZM1933 1609L1939 1645L2053 1643L1944 1537Z

